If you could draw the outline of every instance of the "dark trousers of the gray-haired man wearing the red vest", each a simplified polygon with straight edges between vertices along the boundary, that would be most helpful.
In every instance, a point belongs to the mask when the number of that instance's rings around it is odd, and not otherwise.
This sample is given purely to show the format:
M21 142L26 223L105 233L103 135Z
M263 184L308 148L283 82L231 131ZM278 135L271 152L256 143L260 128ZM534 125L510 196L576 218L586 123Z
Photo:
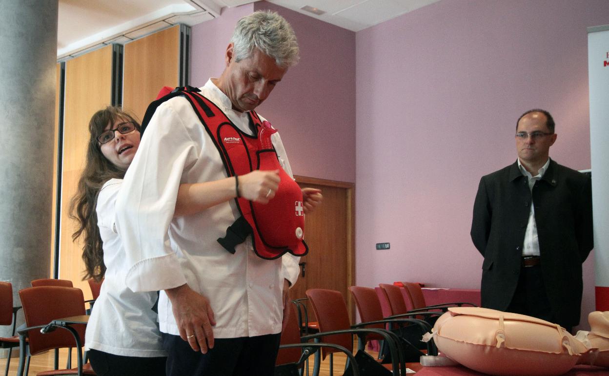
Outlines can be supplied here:
M192 350L180 336L161 333L167 376L272 376L281 334L216 338L207 353Z

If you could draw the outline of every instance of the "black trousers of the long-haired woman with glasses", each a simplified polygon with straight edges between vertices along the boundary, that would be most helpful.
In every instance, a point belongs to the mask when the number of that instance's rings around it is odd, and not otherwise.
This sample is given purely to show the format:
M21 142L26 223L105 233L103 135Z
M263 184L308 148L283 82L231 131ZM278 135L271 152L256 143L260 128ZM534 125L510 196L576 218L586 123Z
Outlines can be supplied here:
M165 376L167 358L122 356L91 349L89 360L97 376Z

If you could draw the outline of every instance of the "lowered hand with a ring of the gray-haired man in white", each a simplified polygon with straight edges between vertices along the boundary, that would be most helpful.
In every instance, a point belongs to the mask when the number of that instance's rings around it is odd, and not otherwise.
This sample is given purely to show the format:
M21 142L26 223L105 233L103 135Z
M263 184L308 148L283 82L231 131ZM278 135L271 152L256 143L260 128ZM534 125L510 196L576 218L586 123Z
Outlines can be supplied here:
M180 338L187 341L192 350L206 353L212 349L214 332L211 327L216 325L216 320L209 300L186 284L167 289L165 293L171 300Z

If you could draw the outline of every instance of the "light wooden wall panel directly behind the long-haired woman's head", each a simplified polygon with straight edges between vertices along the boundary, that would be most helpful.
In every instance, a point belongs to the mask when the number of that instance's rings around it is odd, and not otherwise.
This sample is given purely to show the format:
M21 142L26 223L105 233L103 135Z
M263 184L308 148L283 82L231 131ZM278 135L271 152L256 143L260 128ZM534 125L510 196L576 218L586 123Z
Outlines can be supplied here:
M82 281L82 243L72 242L75 222L69 219L69 204L85 165L91 115L111 104L112 52L107 46L66 62L59 278L72 280L85 299L91 291Z

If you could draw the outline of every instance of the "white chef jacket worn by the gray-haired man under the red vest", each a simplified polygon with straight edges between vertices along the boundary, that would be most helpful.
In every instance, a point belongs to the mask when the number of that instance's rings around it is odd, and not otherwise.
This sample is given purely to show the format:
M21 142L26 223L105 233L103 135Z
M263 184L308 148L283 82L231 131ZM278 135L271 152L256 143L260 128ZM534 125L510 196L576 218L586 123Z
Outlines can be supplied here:
M232 109L230 99L211 82L201 88L243 132L249 115ZM292 176L278 133L272 135L284 170ZM200 213L174 217L180 183L211 182L227 177L219 152L185 98L158 108L144 132L117 201L116 223L132 268L133 291L189 287L209 299L216 325L214 337L237 338L281 332L283 281L298 278L298 257L276 260L255 255L252 239L230 254L217 242L238 218L234 200ZM179 335L171 302L161 291L161 332Z

